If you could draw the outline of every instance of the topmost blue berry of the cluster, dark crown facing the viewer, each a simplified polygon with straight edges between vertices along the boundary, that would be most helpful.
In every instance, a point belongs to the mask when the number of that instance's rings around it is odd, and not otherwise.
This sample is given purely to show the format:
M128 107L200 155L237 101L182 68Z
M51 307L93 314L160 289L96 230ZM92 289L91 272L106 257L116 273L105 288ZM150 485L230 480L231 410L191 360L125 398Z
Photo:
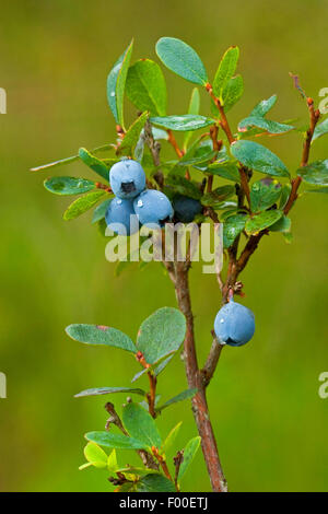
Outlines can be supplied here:
M132 159L125 159L112 166L110 187L119 198L134 198L145 188L145 175L142 166Z

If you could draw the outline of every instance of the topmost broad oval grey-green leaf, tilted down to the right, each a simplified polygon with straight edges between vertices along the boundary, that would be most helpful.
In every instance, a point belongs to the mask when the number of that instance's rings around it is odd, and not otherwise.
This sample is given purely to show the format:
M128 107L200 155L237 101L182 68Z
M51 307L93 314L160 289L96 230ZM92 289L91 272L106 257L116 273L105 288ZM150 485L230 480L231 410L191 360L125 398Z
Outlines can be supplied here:
M156 54L174 73L194 84L207 84L204 66L198 54L186 43L175 37L162 37L156 44Z

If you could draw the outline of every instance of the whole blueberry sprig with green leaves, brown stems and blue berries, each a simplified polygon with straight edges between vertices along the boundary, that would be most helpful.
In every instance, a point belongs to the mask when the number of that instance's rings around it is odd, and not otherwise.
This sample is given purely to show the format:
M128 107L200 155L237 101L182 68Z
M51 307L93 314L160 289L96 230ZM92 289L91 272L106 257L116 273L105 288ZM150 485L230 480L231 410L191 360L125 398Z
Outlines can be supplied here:
M259 102L236 128L232 128L226 114L244 90L243 78L236 74L238 48L226 50L210 81L201 59L190 46L176 38L163 37L156 44L162 63L196 84L187 114L168 115L161 67L150 59L131 63L132 46L130 43L107 79L107 98L116 121L117 140L91 152L81 148L74 156L34 171L52 170L80 160L95 172L102 182L55 176L45 180L45 187L57 195L78 195L66 210L65 220L72 220L95 207L92 222L102 232L107 224L116 223L124 227L127 237L138 232L140 225L153 222L161 229L168 221L195 221L199 226L206 220L223 223L226 267L224 277L221 271L216 277L222 307L211 331L208 358L200 366L188 284L191 258L187 254L185 261L177 258L165 261L165 257L162 260L175 287L178 309L162 307L156 311L142 323L136 341L116 328L102 325L79 324L67 328L72 339L83 343L106 344L130 353L141 366L132 382L144 374L149 378L149 390L110 386L77 395L129 395L121 412L114 404L106 404L109 419L105 431L85 435L87 462L82 468L107 469L116 491L179 491L183 476L201 445L213 491L225 492L227 484L209 416L207 387L224 346L238 347L253 337L254 315L233 296L244 295L238 279L261 238L280 234L291 242L289 215L301 196L301 186L302 196L328 190L328 160L309 161L312 143L328 132L328 119L318 124L319 110L301 87L298 78L292 75L308 110L306 128L268 117L276 95ZM206 116L199 114L200 91L209 96ZM137 108L136 120L130 127L126 127L124 120L125 96ZM292 130L303 137L301 164L293 172L258 142L267 136L278 137ZM161 147L165 145L175 152L174 160L161 157ZM258 174L263 176L260 178ZM133 229L129 225L131 214L137 217ZM121 233L120 229L116 232ZM159 375L183 343L188 389L161 402L156 389ZM142 397L141 401L138 397ZM180 423L163 440L156 418L172 404L188 398L191 398L198 435L185 448L177 448L169 462L167 452L174 445ZM110 448L110 453L104 448ZM116 452L121 448L137 452L140 466L119 464Z

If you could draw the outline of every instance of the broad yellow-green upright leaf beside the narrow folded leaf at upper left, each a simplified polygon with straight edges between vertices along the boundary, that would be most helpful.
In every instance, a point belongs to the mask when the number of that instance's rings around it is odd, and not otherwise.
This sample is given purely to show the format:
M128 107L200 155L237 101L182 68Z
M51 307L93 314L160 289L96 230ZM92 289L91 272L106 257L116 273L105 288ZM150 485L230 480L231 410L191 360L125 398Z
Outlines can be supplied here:
M152 116L166 114L166 84L161 68L151 59L140 59L129 68L127 96L140 110Z

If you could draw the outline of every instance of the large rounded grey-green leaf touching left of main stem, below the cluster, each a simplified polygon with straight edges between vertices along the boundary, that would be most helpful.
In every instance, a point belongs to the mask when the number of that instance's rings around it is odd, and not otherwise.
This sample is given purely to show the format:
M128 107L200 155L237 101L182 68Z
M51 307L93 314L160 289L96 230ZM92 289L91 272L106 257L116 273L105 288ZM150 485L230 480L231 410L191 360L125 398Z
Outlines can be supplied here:
M141 325L137 347L149 364L176 352L186 335L185 316L172 307L159 308Z

